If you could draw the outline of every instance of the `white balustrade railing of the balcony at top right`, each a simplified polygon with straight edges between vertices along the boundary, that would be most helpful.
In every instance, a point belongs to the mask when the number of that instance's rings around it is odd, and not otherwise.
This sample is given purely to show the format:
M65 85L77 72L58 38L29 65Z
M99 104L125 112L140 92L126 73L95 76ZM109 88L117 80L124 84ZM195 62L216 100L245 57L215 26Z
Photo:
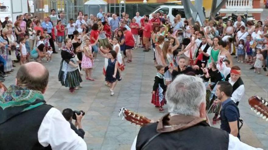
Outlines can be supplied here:
M244 9L244 8L253 8L253 0L227 0L226 8L227 9Z

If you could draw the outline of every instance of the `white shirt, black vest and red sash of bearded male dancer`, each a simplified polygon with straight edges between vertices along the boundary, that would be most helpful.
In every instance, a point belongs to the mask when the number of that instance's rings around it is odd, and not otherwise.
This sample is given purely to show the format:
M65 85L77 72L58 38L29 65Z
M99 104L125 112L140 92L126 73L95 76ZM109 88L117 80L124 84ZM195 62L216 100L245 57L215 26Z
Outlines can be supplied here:
M199 45L199 47L196 49L195 65L198 65L199 68L201 68L202 64L205 64L205 66L206 66L207 61L209 59L209 56L207 57L207 56L203 55L203 53L200 53L199 49L201 48L201 50L203 52L207 53L207 52L211 52L211 47L208 43L203 44L199 39L196 39L196 45Z

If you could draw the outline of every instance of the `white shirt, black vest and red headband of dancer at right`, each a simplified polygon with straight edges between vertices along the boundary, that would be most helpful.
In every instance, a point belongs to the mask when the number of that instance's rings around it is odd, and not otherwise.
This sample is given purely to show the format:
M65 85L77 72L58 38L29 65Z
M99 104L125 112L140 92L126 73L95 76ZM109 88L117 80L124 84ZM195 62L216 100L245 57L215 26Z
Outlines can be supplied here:
M225 63L223 63L221 61L217 65L217 68L218 69L221 68L221 69L219 69L219 71L220 71L220 73L222 73L224 75L225 81L229 82L233 86L231 100L233 100L236 103L236 105L238 105L240 100L242 99L242 97L245 94L245 86L244 86L244 83L243 83L241 77L239 77L238 80L235 82L232 81L231 80L231 73L240 75L241 70L234 70L234 69L231 69L229 67L226 67Z

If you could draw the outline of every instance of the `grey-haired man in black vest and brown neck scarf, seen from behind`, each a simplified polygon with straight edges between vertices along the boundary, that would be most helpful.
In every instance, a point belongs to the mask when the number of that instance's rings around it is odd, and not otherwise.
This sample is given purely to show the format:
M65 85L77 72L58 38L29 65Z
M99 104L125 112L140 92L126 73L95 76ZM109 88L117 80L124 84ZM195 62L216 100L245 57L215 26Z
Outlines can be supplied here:
M169 113L158 122L142 126L131 150L260 150L219 128L210 127L206 117L206 87L201 78L178 75L168 86L166 100Z

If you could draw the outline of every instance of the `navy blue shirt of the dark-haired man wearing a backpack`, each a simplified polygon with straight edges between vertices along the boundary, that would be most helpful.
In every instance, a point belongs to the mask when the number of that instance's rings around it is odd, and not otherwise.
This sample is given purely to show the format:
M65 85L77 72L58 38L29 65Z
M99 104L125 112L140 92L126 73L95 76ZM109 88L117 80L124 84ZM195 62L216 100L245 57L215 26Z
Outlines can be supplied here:
M231 128L229 126L229 122L237 121L237 126L239 128L239 112L234 106L236 104L231 100L231 98L228 98L226 101L222 102L221 105L222 109L220 112L220 129L230 133ZM240 139L239 131L237 137Z

